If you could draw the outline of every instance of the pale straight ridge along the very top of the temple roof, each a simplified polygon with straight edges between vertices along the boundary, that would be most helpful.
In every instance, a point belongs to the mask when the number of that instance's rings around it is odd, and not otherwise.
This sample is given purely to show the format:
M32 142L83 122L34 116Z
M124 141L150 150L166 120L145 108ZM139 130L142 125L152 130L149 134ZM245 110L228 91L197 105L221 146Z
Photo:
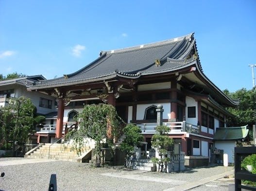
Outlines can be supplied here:
M193 38L193 34L194 34L194 32L187 34L185 36L180 36L180 37L176 37L176 38L172 38L172 39L168 39L168 40L164 40L164 41L158 41L158 42L148 43L148 44L140 44L140 45L125 47L125 48L120 48L120 49L114 49L114 50L107 50L107 51L102 51L101 53L115 54L115 53L121 53L121 52L126 52L126 51L139 50L140 48L150 48L150 47L154 47L154 46L161 46L161 45L165 45L165 44L176 43L176 42L183 41L184 38L185 38L185 40Z

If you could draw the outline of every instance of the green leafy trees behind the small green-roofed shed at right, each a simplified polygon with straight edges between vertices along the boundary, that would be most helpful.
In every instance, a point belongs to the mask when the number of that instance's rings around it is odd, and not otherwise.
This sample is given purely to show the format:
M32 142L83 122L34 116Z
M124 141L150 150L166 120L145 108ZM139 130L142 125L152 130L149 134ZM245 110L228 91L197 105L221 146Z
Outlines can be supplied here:
M227 118L228 126L243 126L252 127L256 121L256 88L247 90L241 88L234 93L227 89L223 91L231 99L239 100L236 108L227 107L226 109L235 116L235 118Z

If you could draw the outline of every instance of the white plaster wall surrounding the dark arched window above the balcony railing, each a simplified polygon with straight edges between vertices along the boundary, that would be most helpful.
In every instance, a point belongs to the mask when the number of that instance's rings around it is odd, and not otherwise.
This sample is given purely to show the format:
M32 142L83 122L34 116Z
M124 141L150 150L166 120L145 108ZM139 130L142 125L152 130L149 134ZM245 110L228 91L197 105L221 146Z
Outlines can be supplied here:
M157 106L158 104L163 105L163 118L168 119L171 117L171 103L150 103L150 104L138 104L137 105L137 114L136 120L143 120L145 115L145 109L150 107L151 105Z

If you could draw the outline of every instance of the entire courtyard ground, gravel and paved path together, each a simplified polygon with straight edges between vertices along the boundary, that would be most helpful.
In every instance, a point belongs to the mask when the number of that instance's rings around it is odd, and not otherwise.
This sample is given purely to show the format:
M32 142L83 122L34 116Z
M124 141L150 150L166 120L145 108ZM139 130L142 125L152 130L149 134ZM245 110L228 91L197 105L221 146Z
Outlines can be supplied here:
M0 191L46 191L50 177L57 177L58 191L228 191L233 167L188 169L181 173L96 168L87 163L53 160L0 158ZM230 176L231 177L231 176ZM222 178L222 179L221 179Z

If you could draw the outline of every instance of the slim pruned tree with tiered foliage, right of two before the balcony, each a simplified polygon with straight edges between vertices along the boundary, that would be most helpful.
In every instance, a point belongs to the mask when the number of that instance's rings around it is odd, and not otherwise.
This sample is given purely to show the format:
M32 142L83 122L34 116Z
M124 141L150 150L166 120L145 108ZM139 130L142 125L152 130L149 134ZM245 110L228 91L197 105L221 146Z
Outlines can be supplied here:
M168 148L173 144L173 139L167 135L169 130L167 126L157 126L156 134L152 136L152 146L156 151L158 150L160 156L160 158L152 158L154 163L158 163L158 172L167 172L167 164L171 161L171 159L167 157Z

